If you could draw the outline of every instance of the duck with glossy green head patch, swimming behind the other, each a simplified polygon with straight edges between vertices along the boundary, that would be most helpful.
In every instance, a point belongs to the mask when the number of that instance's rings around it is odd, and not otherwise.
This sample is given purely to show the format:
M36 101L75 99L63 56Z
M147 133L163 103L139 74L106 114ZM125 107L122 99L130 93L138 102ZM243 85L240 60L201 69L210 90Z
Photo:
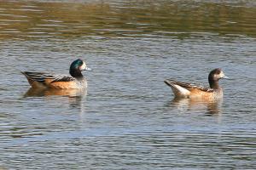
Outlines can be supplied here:
M76 59L70 65L70 76L34 71L21 71L21 73L26 77L32 88L84 89L87 88L87 80L82 71L90 70L84 60Z

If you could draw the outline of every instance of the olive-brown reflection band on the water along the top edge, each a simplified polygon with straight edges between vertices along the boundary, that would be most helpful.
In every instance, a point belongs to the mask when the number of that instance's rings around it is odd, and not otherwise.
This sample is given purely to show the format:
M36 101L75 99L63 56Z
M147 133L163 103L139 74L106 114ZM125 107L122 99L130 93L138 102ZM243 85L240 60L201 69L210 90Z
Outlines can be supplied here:
M256 36L253 1L0 2L0 39Z

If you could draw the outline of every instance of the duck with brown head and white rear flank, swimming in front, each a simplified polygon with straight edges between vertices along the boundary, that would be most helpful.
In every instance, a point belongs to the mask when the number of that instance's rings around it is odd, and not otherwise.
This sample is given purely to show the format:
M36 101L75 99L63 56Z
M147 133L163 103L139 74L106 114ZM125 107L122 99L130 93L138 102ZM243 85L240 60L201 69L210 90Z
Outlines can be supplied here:
M166 79L164 82L172 88L175 98L221 99L223 98L223 89L218 85L218 80L222 78L228 79L229 77L226 77L224 71L217 68L209 73L209 88L189 82L177 82L173 79Z

